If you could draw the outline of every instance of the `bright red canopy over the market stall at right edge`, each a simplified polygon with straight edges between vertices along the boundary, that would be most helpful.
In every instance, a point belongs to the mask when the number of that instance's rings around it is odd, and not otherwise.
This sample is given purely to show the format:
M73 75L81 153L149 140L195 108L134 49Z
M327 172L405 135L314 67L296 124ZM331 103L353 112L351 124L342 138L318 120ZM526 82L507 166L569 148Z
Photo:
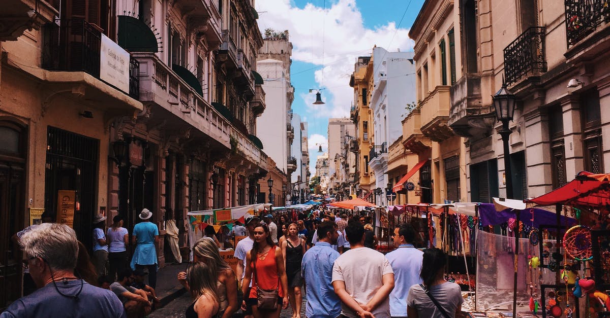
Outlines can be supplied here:
M610 205L610 174L592 174L583 171L565 185L524 201L537 205L571 204L586 207Z

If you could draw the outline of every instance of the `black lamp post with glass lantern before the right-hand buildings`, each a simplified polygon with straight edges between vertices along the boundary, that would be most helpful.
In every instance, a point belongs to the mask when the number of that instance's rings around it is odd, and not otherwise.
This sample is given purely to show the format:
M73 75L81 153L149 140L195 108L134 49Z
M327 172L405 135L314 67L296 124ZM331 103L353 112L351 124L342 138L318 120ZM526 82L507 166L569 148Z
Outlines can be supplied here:
M506 88L506 82L502 79L502 87L500 90L492 96L493 107L495 107L496 116L498 121L502 122L502 129L500 130L500 136L502 136L502 142L504 144L504 179L506 180L506 198L512 199L512 171L511 171L511 150L509 149L508 140L511 136L511 129L508 127L508 122L512 121L512 116L515 113L515 103L517 97L515 94ZM517 261L519 260L519 210L515 210L517 214L515 222L515 277L512 295L512 316L517 317Z

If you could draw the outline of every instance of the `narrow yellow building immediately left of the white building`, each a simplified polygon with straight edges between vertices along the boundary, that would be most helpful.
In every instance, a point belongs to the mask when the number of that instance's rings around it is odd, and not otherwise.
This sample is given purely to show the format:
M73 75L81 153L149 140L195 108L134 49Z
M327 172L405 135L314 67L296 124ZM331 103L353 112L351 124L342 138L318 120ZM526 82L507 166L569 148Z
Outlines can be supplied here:
M350 87L354 88L354 105L351 107L350 118L356 125L357 157L354 183L359 197L366 196L375 183L373 171L368 167L368 150L370 149L370 109L368 108L369 86L373 85L373 61L370 56L358 57L354 64L354 72L350 78ZM356 150L356 149L354 149ZM370 196L369 196L370 197Z

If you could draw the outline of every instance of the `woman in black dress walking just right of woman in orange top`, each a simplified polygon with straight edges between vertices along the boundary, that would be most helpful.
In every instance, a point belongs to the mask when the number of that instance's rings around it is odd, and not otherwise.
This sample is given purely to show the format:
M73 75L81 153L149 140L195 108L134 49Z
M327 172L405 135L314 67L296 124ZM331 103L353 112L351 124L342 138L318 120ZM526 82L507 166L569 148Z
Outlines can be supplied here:
M305 240L298 236L296 224L288 226L288 236L281 245L282 255L285 260L286 277L288 278L288 296L292 317L301 318L301 287L303 277L301 276L301 261L305 253Z

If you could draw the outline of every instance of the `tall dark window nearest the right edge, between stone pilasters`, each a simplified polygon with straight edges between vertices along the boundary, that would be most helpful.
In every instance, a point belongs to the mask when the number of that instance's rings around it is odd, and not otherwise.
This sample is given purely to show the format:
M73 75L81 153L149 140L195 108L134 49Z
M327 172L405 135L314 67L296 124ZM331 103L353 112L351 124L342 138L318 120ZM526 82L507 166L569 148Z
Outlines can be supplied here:
M581 111L583 119L584 169L594 174L604 171L601 143L600 94L597 89L583 93Z

